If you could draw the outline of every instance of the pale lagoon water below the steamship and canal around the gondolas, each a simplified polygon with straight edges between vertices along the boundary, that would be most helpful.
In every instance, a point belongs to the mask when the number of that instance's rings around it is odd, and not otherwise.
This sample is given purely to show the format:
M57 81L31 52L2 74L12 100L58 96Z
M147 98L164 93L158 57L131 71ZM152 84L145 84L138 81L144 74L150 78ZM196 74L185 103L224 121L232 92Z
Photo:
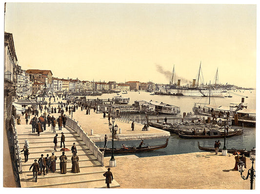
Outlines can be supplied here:
M240 92L241 91L241 92ZM245 103L248 103L249 109L256 109L256 91L255 90L238 90L236 94L242 96L248 96L245 98ZM234 92L234 91L232 91ZM112 98L116 96L115 94L103 94L99 98ZM207 103L207 97L178 97L178 96L158 96L158 95L150 95L147 92L128 92L128 94L122 95L124 97L130 97L129 104L134 103L135 100L154 100L159 102L164 102L176 106L180 106L181 113L183 112L192 112L193 103ZM211 98L211 104L229 106L229 103L240 103L241 97L231 94L231 98L223 98L223 97L215 97ZM97 98L97 97L89 97L89 98ZM206 102L207 100L207 102ZM215 103L214 103L215 102ZM233 126L233 128L240 128L239 126ZM214 147L214 143L219 139L182 139L178 135L172 134L169 137L168 146L161 150L156 150L152 152L144 152L144 153L135 153L138 157L147 157L147 156L159 156L159 155L176 155L176 154L186 154L193 152L200 152L198 148L198 141L200 142L200 146L205 147ZM160 139L145 139L145 145L161 145L164 144L166 138ZM224 145L224 139L220 138L221 146ZM127 146L139 146L140 140L128 140L128 141L114 141L114 147L120 148L121 144L124 143ZM104 142L97 142L97 146L103 147ZM107 146L109 148L112 147L112 142L108 141ZM251 150L253 147L256 147L256 128L255 127L244 127L244 134L241 136L233 136L226 138L226 148L236 148L236 149L246 149ZM116 154L116 155L133 155L129 154ZM109 155L105 155L109 156Z

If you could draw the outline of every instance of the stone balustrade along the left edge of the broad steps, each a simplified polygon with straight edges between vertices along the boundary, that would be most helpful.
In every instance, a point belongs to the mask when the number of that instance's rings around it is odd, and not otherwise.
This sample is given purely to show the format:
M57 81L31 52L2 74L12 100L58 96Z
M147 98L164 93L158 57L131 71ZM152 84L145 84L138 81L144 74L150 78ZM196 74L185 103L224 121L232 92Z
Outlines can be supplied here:
M18 134L16 130L16 122L15 117L12 115L11 117L11 126L12 126L12 133L13 133L13 145L14 145L14 157L17 163L18 172L19 174L22 173L22 165L21 165L21 152L20 152L20 146L19 146L19 139Z

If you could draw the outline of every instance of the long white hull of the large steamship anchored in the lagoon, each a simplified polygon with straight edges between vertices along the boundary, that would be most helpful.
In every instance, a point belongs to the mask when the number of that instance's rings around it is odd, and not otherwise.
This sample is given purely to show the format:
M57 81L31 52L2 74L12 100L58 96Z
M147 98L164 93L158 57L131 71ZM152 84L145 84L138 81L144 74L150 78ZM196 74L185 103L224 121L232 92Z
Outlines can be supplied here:
M189 90L189 89L163 89L159 90L160 93L164 95L173 95L173 96L190 96L190 97L208 97L209 90ZM218 89L210 90L211 97L224 97L226 96L227 91Z

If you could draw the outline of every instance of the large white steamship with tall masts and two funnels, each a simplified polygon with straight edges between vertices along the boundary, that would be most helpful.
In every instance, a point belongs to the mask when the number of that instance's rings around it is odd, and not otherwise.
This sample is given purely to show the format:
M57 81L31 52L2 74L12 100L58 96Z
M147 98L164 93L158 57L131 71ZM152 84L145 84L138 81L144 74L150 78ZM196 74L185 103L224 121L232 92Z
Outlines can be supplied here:
M211 97L224 97L227 94L227 90L223 88L206 88L205 85L199 86L199 80L201 77L201 62L200 62L200 69L198 73L198 79L193 79L192 86L191 87L183 87L180 86L180 79L178 79L178 82L175 83L175 71L173 67L173 74L172 78L170 80L169 85L163 85L158 86L159 91L155 92L156 95L172 95L172 96L191 96L191 97L208 97L209 95ZM218 79L218 70L215 76L215 83ZM197 84L196 84L197 81ZM215 84L216 85L216 84Z

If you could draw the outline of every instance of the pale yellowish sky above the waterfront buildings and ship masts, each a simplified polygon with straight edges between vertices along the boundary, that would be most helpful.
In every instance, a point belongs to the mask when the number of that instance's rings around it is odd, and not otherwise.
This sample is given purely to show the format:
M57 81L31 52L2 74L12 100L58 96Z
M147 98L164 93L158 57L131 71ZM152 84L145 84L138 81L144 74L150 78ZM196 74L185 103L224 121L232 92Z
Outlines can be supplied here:
M4 31L13 34L22 69L80 80L256 88L256 4L12 3Z

